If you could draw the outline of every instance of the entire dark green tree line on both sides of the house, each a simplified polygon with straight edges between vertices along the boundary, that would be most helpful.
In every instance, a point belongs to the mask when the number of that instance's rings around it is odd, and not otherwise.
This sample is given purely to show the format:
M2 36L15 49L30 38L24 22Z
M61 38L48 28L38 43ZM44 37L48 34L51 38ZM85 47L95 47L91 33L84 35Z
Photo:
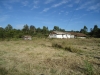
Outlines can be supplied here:
M28 26L27 24L24 25L22 29L14 29L12 25L8 24L5 28L0 27L0 39L22 38L24 35L31 35L33 37L48 37L49 33L52 31L65 32L65 29L54 26L52 30L49 30L46 26L36 28L34 25ZM94 25L94 28L91 28L90 32L88 32L88 28L86 26L84 26L80 31L73 32L84 33L90 37L100 37L100 28L98 28L97 25Z

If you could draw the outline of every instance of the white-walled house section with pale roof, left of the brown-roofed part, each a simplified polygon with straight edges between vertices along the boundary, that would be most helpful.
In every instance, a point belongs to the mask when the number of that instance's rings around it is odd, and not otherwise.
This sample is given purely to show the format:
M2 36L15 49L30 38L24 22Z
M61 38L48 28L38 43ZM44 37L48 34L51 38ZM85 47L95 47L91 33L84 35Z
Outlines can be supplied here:
M71 38L71 34L67 32L53 31L49 34L49 38Z

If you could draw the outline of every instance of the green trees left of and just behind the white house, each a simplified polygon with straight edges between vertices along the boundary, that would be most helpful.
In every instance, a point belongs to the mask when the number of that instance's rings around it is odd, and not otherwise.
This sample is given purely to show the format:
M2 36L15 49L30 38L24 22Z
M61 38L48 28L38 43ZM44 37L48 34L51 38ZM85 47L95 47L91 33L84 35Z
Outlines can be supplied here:
M54 26L53 30L65 31L64 29ZM22 38L24 35L31 35L34 37L47 37L52 30L48 27L36 28L34 25L24 25L22 29L14 29L12 25L8 24L5 28L0 27L0 39L6 38Z

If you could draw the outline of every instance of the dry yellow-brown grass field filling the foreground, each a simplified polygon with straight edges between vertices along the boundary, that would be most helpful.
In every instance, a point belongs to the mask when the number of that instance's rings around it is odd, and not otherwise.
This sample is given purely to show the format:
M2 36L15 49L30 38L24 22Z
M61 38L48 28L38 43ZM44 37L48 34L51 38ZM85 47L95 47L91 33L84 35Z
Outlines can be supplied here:
M0 41L0 75L100 75L100 39Z

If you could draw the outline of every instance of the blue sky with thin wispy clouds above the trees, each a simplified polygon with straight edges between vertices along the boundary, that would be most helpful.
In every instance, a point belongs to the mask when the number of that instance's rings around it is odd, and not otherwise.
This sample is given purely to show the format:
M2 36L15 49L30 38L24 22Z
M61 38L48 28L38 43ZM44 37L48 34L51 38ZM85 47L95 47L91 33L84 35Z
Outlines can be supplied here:
M100 27L100 0L0 0L0 26L25 24L65 30Z

